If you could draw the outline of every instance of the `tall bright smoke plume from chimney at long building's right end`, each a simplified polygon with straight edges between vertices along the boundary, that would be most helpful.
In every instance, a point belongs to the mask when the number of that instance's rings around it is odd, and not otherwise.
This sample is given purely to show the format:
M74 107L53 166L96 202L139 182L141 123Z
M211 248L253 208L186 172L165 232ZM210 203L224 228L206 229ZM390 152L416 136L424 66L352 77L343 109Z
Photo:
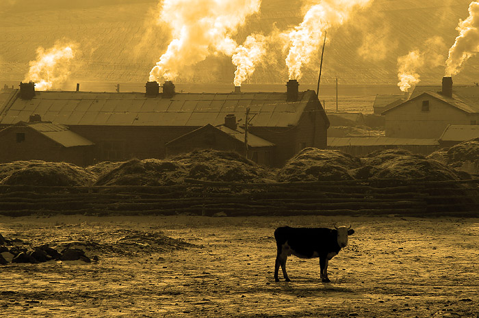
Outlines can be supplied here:
M283 35L289 42L286 57L289 79L300 79L301 67L318 54L324 31L339 27L348 21L354 10L365 8L372 0L323 0L307 10L302 23Z

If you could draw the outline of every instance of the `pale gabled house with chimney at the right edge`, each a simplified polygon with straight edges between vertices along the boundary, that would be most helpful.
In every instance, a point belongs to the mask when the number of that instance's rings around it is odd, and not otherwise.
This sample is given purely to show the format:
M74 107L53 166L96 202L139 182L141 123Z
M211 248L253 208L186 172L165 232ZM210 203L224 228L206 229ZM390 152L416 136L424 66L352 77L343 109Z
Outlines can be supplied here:
M439 139L449 124L479 123L479 87L453 90L444 77L441 92L415 90L411 99L383 111L386 137Z

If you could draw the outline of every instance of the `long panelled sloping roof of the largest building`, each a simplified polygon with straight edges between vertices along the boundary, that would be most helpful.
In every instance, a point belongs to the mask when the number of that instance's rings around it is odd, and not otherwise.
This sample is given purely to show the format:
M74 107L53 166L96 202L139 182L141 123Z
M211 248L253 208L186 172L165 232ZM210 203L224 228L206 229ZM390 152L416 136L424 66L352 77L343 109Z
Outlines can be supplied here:
M161 94L151 98L138 92L36 92L28 101L16 98L0 114L0 124L27 121L30 115L39 114L43 120L68 126L218 125L226 114L244 121L246 107L250 107L257 114L250 122L253 126L289 127L298 123L307 103L314 100L318 101L311 90L300 92L297 102L287 102L286 92L178 93L172 98L161 98Z

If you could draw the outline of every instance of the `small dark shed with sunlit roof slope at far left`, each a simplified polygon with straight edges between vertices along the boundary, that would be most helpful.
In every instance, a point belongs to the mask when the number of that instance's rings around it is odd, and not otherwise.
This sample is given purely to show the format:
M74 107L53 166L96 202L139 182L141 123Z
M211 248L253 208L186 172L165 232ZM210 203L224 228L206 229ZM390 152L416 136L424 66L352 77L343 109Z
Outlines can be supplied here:
M38 159L87 165L92 162L94 150L90 140L62 124L42 122L38 115L0 131L1 163Z

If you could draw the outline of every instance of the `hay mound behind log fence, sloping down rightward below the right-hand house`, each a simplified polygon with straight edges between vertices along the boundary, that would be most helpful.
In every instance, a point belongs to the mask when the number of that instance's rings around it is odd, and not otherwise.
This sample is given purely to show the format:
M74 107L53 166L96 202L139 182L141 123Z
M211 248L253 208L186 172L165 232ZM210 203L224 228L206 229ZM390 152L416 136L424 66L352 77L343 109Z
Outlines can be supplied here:
M428 181L458 180L456 170L439 161L415 155L407 150L382 150L362 158L365 167L371 168L370 178L424 178Z

